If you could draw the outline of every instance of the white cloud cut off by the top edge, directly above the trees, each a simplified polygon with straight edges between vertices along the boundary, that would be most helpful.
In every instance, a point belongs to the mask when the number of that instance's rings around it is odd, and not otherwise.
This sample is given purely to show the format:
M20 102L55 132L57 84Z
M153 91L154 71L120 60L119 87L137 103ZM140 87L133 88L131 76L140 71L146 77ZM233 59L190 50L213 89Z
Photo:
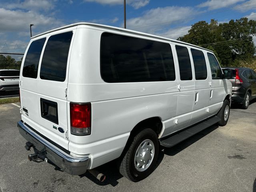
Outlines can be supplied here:
M245 1L245 0L208 0L206 2L199 4L197 7L199 8L207 7L208 10L214 10L214 9L228 7L230 5L233 5L242 1Z

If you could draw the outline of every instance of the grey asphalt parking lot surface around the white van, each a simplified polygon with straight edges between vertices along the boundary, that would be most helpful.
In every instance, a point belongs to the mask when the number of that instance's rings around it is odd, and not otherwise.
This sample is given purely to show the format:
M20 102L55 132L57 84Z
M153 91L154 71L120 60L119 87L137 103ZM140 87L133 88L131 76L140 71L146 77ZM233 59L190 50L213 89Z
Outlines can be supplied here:
M106 181L90 173L71 176L46 162L28 161L16 123L19 103L0 105L0 192L218 191L256 192L256 101L248 110L233 106L228 124L211 126L163 148L156 170L137 183L122 177L115 163L100 166Z

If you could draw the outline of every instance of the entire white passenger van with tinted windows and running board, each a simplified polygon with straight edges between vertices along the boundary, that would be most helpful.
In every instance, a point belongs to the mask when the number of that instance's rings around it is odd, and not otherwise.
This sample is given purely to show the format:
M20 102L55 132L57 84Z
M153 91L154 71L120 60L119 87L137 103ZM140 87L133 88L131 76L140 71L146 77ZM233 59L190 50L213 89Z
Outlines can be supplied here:
M30 160L80 175L118 159L132 181L172 147L226 125L231 83L213 52L146 33L77 23L31 38L20 70Z

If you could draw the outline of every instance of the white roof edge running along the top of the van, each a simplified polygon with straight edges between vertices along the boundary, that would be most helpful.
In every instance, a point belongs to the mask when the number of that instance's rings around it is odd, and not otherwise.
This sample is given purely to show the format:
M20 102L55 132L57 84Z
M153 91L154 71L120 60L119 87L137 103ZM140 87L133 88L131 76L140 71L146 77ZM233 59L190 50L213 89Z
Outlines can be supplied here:
M194 46L194 47L197 47L197 48L201 48L201 49L213 52L212 50L208 50L208 49L202 48L200 46L196 46L196 45L193 45L193 44L185 43L185 42L174 40L174 39L169 39L169 38L165 38L165 37L161 37L161 36L157 36L157 35L152 35L152 34L148 34L148 33L144 33L144 32L138 32L138 31L134 31L134 30L130 30L130 29L124 29L124 28L120 28L120 27L114 27L114 26L108 26L108 25L102 25L102 24L95 24L95 23L87 23L87 22L74 23L74 24L70 24L70 25L67 25L67 26L60 27L60 28L56 28L56 29L53 29L53 30L35 35L35 36L31 37L31 39L36 38L36 37L41 36L41 35L44 35L44 34L48 34L50 32L54 32L54 31L58 31L58 30L61 30L61 29L70 28L70 27L78 26L78 25L87 25L87 26L100 27L100 28L106 28L106 29L111 29L111 30L118 30L118 31L132 33L132 34L138 34L138 35L158 38L158 39L162 39L162 40L168 40L168 41L171 41L171 42L186 44L186 45L189 45L189 46Z

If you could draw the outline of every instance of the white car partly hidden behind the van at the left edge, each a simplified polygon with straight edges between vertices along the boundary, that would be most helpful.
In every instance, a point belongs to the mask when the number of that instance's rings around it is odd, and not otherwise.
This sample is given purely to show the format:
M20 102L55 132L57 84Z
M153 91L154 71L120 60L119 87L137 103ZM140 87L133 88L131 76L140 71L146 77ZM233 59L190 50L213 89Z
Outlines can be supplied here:
M0 96L5 91L19 90L20 71L14 69L0 69Z

